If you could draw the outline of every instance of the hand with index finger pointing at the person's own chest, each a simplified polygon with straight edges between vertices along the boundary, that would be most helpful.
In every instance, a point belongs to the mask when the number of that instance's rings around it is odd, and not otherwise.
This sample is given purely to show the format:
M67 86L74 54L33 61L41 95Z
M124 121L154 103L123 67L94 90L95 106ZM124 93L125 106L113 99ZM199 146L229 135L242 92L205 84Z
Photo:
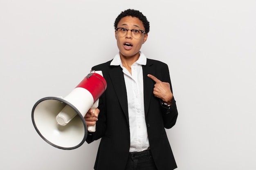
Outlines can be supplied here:
M170 84L168 82L162 82L161 80L157 79L157 77L148 74L148 77L153 79L155 82L155 87L153 90L153 94L155 97L162 99L163 102L167 104L171 104L173 99L173 93L171 92Z

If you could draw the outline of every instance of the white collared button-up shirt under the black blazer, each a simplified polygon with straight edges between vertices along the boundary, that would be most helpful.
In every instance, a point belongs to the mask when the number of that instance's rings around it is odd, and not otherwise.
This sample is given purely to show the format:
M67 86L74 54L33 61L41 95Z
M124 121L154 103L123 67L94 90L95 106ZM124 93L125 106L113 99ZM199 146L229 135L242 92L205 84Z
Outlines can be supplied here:
M149 148L148 133L144 111L144 88L142 65L146 65L146 56L140 52L139 59L132 64L131 72L123 66L119 53L115 55L110 65L121 66L124 72L128 100L128 115L130 125L130 150L140 152Z

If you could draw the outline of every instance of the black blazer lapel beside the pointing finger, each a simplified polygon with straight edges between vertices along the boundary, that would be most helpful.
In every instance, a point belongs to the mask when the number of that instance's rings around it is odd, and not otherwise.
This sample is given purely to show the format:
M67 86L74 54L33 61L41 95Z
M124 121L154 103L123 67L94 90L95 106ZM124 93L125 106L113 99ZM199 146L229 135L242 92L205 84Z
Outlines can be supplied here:
M152 74L155 75L155 69L152 69L151 66L153 65L152 62L147 60L147 64L142 66L143 69L143 82L144 82L144 109L145 109L145 116L148 113L148 108L150 106L150 99L153 96L153 88L155 82L150 79L147 75Z

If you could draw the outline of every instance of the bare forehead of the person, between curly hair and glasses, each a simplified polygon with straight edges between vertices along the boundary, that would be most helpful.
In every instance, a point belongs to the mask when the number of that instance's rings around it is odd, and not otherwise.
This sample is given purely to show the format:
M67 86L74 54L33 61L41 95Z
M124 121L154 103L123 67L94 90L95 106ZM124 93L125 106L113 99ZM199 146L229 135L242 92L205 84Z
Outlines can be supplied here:
M132 17L132 16L126 16L124 18L122 18L118 24L118 27L128 27L129 29L132 28L137 28L137 29L144 29L143 23L141 20L139 20L139 18L137 17Z

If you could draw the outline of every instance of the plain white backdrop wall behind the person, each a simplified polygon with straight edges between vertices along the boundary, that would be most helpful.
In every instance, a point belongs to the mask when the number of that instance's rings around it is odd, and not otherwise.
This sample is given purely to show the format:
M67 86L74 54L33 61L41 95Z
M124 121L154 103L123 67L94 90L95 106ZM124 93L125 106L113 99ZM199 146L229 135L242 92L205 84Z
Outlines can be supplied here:
M0 0L1 170L93 169L99 141L54 148L31 110L112 59L113 24L128 8L150 22L141 51L170 69L177 170L256 169L255 0Z

